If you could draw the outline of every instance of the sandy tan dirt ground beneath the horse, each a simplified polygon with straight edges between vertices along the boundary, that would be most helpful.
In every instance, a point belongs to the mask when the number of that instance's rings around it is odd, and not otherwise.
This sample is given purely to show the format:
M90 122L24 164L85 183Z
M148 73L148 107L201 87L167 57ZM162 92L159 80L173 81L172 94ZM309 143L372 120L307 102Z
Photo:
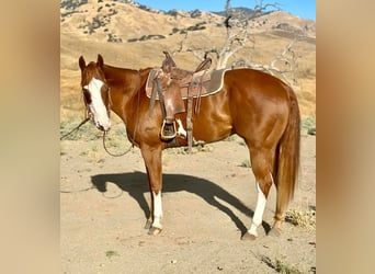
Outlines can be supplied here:
M128 142L113 152L125 150ZM275 273L276 266L316 272L316 231L273 222L271 190L260 237L241 241L257 203L235 136L185 155L163 152L163 230L144 229L150 199L140 151L111 157L102 140L64 140L60 160L60 260L63 273ZM316 137L302 137L302 167L289 208L316 208ZM279 269L280 271L280 269Z

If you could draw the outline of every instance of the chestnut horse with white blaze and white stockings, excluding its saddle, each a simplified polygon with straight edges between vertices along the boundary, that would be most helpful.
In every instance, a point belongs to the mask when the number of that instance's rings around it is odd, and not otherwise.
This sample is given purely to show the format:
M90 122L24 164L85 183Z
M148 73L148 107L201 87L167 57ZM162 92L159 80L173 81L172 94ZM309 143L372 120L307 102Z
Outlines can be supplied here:
M146 81L151 68L133 70L105 65L101 55L86 64L79 58L84 102L96 127L111 128L110 111L125 123L127 137L137 146L145 161L151 194L150 216L146 228L158 235L162 217L162 113L155 107L149 115L150 100ZM195 99L194 99L195 101ZM186 101L184 101L186 106ZM175 115L180 128L186 128L186 113ZM296 95L280 79L252 69L226 71L221 90L201 99L200 112L193 114L193 137L204 142L223 140L237 134L250 152L257 181L258 201L243 240L254 240L272 183L276 186L275 219L269 235L280 235L289 201L293 198L299 165L300 116ZM183 130L184 132L184 130ZM180 136L183 142L184 136Z

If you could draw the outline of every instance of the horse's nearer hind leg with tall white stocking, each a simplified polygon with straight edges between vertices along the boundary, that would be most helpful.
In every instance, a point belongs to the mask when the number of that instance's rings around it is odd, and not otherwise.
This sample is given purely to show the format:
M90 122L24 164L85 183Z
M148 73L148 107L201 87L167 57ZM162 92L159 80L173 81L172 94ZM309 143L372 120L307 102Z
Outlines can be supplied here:
M273 157L270 149L250 148L251 168L257 181L258 199L252 217L252 222L248 231L242 236L242 240L254 240L258 237L257 228L262 224L266 198L273 182L272 167Z

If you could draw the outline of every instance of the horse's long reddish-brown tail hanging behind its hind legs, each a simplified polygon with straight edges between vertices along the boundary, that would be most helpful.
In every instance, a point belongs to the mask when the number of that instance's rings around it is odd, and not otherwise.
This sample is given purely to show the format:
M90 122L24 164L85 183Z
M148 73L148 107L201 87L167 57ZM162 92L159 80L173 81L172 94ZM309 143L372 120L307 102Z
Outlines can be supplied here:
M289 98L289 116L285 132L279 142L274 180L277 187L276 218L283 217L294 190L299 169L300 114L296 94L287 88Z

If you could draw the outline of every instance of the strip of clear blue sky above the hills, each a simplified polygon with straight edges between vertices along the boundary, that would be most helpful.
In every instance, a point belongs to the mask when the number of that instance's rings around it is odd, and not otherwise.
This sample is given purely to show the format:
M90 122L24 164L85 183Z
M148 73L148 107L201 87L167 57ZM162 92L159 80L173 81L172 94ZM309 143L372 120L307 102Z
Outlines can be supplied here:
M148 5L157 10L203 10L203 11L224 11L226 0L135 0L140 4ZM230 7L254 8L260 0L231 0ZM297 15L303 19L316 20L316 0L263 0L266 3L279 3L281 10Z

